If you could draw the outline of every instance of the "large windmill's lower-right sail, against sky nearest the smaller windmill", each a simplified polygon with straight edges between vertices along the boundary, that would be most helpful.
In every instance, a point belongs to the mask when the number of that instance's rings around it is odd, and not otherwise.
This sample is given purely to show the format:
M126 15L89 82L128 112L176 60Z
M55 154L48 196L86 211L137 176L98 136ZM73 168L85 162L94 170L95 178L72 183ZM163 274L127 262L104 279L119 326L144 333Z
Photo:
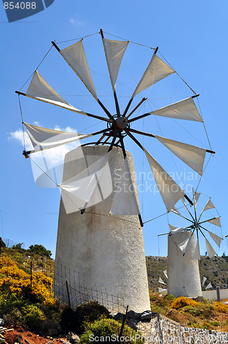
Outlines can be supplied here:
M185 193L145 148L144 152L146 153L146 158L155 177L162 200L167 210L171 211L174 204L176 204Z

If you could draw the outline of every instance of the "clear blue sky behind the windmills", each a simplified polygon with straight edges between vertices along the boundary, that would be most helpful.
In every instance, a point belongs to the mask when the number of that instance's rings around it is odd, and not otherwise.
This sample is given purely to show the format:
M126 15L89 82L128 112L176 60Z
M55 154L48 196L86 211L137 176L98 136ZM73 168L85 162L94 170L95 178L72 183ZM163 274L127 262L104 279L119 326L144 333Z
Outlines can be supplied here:
M3 226L0 236L16 242L43 244L53 254L56 247L58 228L58 206L60 193L57 189L38 188L33 180L30 162L23 158L16 131L21 130L18 96L14 94L45 56L51 41L76 39L100 31L109 32L123 39L159 46L159 52L167 59L182 78L201 96L200 107L212 149L216 151L207 165L199 192L212 197L220 213L223 237L227 232L227 1L59 1L55 0L43 12L14 23L8 23L0 9L1 26L1 214ZM108 39L115 39L105 34ZM62 43L66 47L69 43ZM106 107L114 109L111 86L105 65L100 35L84 39L95 88ZM132 94L136 80L144 72L152 50L131 44L124 56L119 71L119 95L122 107ZM158 54L159 57L161 55ZM54 50L48 54L38 72L79 109L104 116L102 109L89 96L87 89L69 69L65 61ZM102 75L100 75L102 74ZM121 76L122 74L122 76ZM124 84L124 85L123 85ZM26 92L27 85L22 91ZM148 107L157 108L191 96L190 89L178 76L170 76L161 83L147 89ZM21 97L22 98L22 97ZM54 129L71 127L78 132L89 133L104 128L97 120L79 114L69 114L63 109L52 108L36 102L21 99L25 122L38 122L43 127ZM198 105L196 101L196 105ZM146 109L146 108L145 108ZM144 108L142 109L142 111ZM114 110L113 110L114 111ZM168 118L145 118L135 128L157 133L174 140L208 147L207 137L201 123L181 123L185 129ZM187 130L187 131L186 131ZM18 132L20 133L20 132ZM163 134L163 135L162 135ZM138 137L137 137L138 138ZM172 160L170 154L153 142L152 138L138 138L170 173L176 182L181 182L177 170L185 173L186 184L194 187L198 177L190 179L191 170L184 164ZM201 143L199 143L200 141ZM209 148L209 147L208 147ZM137 182L148 175L146 158L131 140L126 140L126 149L135 160ZM209 155L207 155L208 157ZM207 162L207 159L206 159ZM188 178L188 179L187 179ZM146 184L148 183L148 184ZM153 181L144 180L144 192L139 193L141 215L144 222L166 213L159 194L149 192ZM202 196L201 206L206 202ZM200 204L199 204L200 205ZM214 214L212 214L213 216ZM146 255L167 255L167 237L158 234L168 231L168 221L179 224L179 219L165 215L144 226ZM218 235L219 229L215 230ZM227 240L223 240L218 255L228 254ZM201 244L205 252L205 243Z

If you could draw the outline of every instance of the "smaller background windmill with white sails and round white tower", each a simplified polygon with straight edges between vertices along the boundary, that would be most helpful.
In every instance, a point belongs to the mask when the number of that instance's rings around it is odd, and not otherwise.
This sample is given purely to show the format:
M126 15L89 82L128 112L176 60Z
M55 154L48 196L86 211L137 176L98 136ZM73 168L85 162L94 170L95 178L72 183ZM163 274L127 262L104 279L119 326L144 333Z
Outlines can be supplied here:
M182 293L183 296L201 296L201 281L198 270L198 260L201 259L200 237L203 237L203 240L205 240L209 258L216 255L216 251L209 240L213 240L214 244L216 244L218 248L220 247L222 237L213 233L212 230L209 230L210 226L217 226L220 228L220 216L212 215L212 211L216 209L210 198L207 199L203 209L198 212L197 204L200 196L201 193L193 191L194 207L192 207L192 211L183 201L184 209L186 210L185 215L176 208L172 209L172 213L184 219L185 224L187 222L187 226L175 227L169 224L168 292L170 294L179 295ZM208 211L210 211L209 214L207 214ZM205 277L203 278L203 285L204 283ZM210 288L210 285L207 288Z

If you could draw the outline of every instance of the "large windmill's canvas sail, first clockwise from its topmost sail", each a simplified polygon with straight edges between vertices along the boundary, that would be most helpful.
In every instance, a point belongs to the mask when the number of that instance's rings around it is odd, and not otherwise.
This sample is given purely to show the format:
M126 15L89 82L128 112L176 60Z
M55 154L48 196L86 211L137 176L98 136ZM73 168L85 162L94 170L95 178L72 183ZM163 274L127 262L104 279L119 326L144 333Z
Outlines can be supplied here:
M144 75L141 77L135 92L131 96L134 98L139 92L144 91L144 89L154 85L159 80L166 78L170 74L173 74L175 71L170 68L166 63L164 63L161 58L156 54L153 54Z

